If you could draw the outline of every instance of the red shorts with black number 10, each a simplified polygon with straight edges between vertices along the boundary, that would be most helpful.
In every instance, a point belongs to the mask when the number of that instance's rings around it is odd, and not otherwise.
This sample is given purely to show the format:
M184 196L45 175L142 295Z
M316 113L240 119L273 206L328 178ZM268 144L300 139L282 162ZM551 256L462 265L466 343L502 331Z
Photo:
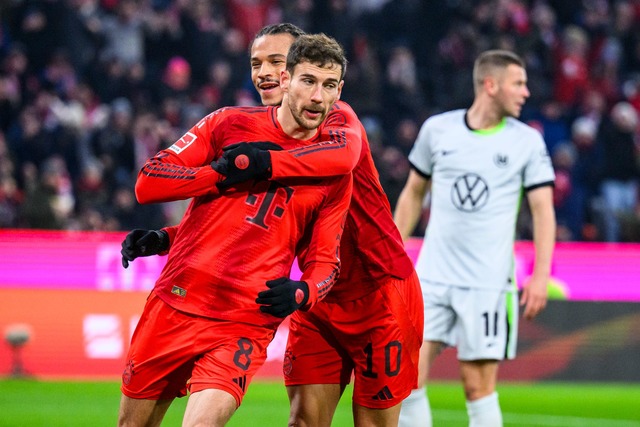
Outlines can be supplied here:
M390 408L417 387L424 307L415 273L390 279L363 298L327 303L291 316L285 384L343 384L353 401Z

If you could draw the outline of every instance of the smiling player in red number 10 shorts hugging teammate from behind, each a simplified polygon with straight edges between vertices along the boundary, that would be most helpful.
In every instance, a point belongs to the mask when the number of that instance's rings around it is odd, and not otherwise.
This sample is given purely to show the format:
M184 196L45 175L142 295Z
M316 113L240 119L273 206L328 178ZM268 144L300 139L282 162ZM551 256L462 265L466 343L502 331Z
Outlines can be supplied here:
M291 24L278 24L256 35L251 74L263 103L282 99L280 72L300 34ZM284 363L290 423L330 425L353 375L354 424L397 425L400 403L417 382L423 329L420 286L356 114L338 101L320 131L322 142L301 150L270 151L266 161L271 180L333 176L351 169L354 179L338 281L308 315L291 317ZM226 156L236 154L230 150ZM227 179L235 180L235 172L241 173L231 171ZM123 242L123 263L166 251L173 233L172 227L132 231Z

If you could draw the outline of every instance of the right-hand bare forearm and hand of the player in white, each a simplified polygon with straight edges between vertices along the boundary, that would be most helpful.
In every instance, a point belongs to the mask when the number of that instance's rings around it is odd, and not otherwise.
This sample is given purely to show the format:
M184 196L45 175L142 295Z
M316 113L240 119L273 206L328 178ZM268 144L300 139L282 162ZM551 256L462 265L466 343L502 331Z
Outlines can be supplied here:
M547 305L547 284L556 236L553 188L540 187L527 193L533 217L533 244L536 249L531 280L522 290L520 305L525 306L525 319L533 319Z

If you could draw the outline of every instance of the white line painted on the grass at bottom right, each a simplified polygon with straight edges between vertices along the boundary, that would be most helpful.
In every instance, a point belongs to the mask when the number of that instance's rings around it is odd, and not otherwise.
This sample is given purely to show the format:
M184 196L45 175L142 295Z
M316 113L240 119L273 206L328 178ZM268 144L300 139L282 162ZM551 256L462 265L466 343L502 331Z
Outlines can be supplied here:
M463 411L438 409L433 411L433 418L444 421L467 421L467 414ZM562 415L543 414L502 414L505 424L527 424L544 427L640 427L640 420L619 420L608 418L585 418ZM435 423L434 423L435 424Z

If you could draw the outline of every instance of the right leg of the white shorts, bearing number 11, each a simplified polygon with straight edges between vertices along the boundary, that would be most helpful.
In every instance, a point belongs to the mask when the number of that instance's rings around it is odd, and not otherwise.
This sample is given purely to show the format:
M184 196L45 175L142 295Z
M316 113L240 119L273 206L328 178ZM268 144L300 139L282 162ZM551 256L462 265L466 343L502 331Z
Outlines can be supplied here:
M455 288L452 301L459 360L503 360L515 356L515 290Z

